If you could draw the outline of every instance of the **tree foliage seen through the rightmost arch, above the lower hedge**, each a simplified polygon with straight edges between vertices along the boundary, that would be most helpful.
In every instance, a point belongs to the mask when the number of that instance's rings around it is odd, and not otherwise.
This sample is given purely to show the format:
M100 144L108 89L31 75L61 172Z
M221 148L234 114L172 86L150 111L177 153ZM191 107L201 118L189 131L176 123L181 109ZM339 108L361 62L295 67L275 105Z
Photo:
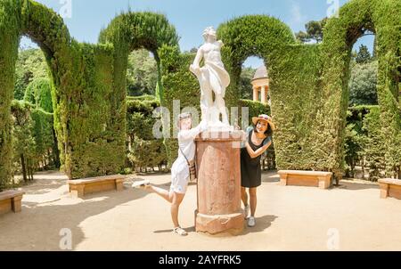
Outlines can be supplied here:
M377 61L355 64L352 67L349 79L349 104L351 106L378 104L377 67Z

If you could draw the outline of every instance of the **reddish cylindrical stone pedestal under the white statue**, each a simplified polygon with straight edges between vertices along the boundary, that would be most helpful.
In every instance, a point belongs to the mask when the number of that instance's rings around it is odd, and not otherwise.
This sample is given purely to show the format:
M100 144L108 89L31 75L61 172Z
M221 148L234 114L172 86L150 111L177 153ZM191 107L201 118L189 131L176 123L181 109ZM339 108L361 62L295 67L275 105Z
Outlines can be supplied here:
M241 209L240 132L205 132L196 138L197 232L239 234Z

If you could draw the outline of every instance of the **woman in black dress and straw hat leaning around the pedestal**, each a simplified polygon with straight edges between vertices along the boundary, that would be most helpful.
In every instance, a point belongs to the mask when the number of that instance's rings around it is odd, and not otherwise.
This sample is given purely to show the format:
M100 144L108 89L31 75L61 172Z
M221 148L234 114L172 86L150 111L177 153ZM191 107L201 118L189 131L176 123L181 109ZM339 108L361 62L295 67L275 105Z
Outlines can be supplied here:
M250 227L256 224L257 188L262 184L260 159L272 144L271 136L274 131L272 118L267 115L252 118L252 123L254 126L250 126L244 134L246 142L245 147L241 149L241 198L245 206L245 218L250 213L248 218ZM248 203L248 196L250 196L250 203Z

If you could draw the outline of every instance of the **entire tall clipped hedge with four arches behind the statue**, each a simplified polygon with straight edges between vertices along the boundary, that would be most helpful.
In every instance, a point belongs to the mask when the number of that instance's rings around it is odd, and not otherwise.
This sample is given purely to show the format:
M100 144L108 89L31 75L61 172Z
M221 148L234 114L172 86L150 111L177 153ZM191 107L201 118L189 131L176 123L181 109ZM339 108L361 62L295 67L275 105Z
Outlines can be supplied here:
M241 105L241 65L249 56L264 59L271 77L272 111L279 169L327 170L340 178L348 109L352 45L363 29L376 33L378 96L387 175L401 161L401 2L351 0L340 18L328 20L321 45L298 45L291 29L265 15L250 15L220 25L217 35L232 83L228 108ZM126 74L128 53L145 48L158 63L157 97L170 109L173 129L181 108L199 110L200 89L188 70L193 53L180 53L176 29L160 14L127 12L103 29L100 45L79 44L63 20L31 0L0 2L0 188L12 176L10 105L20 35L35 41L51 72L54 126L61 163L70 178L107 175L124 164L126 141ZM166 90L164 90L166 88ZM178 112L178 113L176 113ZM255 111L256 112L256 111ZM253 116L253 115L250 115ZM173 135L173 134L171 134ZM165 141L169 161L176 140Z

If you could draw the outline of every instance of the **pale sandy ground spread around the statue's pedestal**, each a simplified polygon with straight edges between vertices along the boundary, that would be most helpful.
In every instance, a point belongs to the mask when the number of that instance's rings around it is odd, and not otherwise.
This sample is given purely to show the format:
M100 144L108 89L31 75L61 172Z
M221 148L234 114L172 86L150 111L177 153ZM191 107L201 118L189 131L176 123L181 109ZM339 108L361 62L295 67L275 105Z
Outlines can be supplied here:
M141 177L168 188L169 175ZM22 212L0 216L0 250L61 250L65 231L74 250L401 250L401 200L381 200L378 185L362 181L324 191L282 187L275 173L265 174L257 226L236 237L194 232L192 185L180 212L189 235L179 237L171 232L168 203L156 194L127 183L123 192L73 199L64 175L35 178L22 188Z

